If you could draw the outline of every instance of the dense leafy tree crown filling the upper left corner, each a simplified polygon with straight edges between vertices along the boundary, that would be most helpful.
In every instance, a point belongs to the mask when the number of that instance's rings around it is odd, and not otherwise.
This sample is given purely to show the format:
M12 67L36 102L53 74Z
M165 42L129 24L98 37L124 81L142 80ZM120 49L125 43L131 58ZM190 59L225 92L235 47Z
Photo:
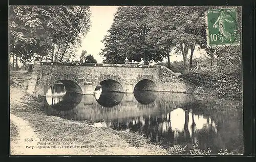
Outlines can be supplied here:
M32 58L34 53L46 55L51 48L48 16L49 12L43 7L10 7L10 50L22 61Z

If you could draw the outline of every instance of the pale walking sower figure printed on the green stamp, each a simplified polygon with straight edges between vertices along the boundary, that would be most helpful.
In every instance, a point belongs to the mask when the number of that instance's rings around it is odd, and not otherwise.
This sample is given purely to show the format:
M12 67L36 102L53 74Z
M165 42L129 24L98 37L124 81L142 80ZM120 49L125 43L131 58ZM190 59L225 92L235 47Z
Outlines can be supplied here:
M231 16L225 14L224 11L220 11L220 16L218 17L218 19L216 20L216 22L214 24L214 28L219 28L219 31L220 31L220 34L221 34L220 37L221 37L221 40L222 40L221 42L223 42L224 39L231 41L232 34L225 30L224 22L227 21L227 22L231 23L231 22L234 22L234 21L228 20L227 19L228 17L231 17Z

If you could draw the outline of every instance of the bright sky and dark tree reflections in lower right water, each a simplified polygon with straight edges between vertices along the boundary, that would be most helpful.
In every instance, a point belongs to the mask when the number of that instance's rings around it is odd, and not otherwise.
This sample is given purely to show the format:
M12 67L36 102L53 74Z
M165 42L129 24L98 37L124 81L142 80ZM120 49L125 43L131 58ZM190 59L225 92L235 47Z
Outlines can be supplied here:
M140 116L121 121L112 120L107 123L113 129L131 129L143 133L152 142L161 142L166 147L182 144L192 149L193 144L198 140L200 149L207 150L210 147L216 152L219 149L226 149L223 143L217 146L211 144L212 141L222 138L217 131L215 121L212 121L210 117L202 114L196 115L193 111L189 112L182 108L157 116Z

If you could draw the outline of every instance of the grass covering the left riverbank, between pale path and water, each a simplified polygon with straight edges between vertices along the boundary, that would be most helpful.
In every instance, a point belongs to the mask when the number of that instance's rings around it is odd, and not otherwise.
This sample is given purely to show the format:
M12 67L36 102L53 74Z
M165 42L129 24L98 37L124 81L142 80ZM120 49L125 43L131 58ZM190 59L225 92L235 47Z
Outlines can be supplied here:
M152 144L150 140L139 134L138 132L127 130L114 130L107 127L94 127L89 121L72 121L62 119L60 117L48 116L44 111L40 110L41 104L36 98L28 95L23 86L29 73L15 72L10 74L10 111L12 114L28 121L35 133L39 137L55 137L55 138L77 138L73 145L98 147L94 150L94 154L112 154L106 152L106 148L101 146L125 146L123 154L130 152L152 155L170 155L170 154L194 154L204 155L208 152L199 150L194 147L187 150L186 146L175 145L164 149L160 145ZM11 139L15 140L18 131L13 123L10 123ZM117 149L114 149L117 150ZM222 154L230 154L228 151ZM231 152L232 153L232 152Z

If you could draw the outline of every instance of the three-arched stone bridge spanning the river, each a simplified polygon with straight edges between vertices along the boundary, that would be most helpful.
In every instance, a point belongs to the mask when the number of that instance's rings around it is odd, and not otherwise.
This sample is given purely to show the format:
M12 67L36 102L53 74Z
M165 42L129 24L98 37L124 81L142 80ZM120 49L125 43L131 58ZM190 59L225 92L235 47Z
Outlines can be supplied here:
M93 94L100 85L103 90L132 93L134 90L185 92L181 78L165 66L94 63L34 62L28 89L45 96L55 82L67 91Z

